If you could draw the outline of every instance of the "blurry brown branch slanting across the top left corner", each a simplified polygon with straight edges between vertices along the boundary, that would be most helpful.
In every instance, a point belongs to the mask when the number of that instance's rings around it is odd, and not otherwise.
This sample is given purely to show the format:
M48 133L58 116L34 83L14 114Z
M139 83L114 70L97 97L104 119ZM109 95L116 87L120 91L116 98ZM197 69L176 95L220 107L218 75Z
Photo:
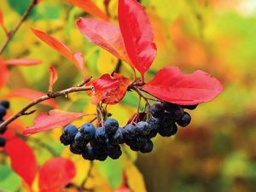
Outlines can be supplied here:
M17 25L9 32L8 37L3 42L3 45L0 48L0 55L3 54L4 49L9 44L10 40L14 37L15 33L18 31L20 26L23 24L23 22L26 20L29 13L32 11L33 7L38 3L38 0L32 0L32 3L27 7L25 13L22 15L20 21L17 23Z

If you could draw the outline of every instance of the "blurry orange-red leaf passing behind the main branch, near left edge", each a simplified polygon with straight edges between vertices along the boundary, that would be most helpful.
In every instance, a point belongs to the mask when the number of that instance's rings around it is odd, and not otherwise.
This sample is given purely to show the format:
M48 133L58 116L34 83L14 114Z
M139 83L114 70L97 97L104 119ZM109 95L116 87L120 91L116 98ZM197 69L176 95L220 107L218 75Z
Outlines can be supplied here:
M38 90L29 90L29 89L17 89L17 90L11 90L6 98L9 97L23 97L30 100L36 100L41 96L45 96L43 92L40 92ZM54 99L49 99L44 102L41 102L44 105L49 105L52 108L58 108L58 103L55 102Z

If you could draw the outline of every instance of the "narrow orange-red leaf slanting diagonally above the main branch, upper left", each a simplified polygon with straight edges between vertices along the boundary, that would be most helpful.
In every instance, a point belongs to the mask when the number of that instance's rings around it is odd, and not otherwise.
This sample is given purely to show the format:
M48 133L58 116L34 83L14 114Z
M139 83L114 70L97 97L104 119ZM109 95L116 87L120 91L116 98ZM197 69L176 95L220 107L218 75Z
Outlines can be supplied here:
M79 68L79 71L83 71L84 61L81 61L81 57L78 60L77 54L73 53L71 49L67 47L66 44L63 44L61 41L57 40L46 34L45 32L41 32L36 29L32 29L32 32L44 41L45 44L48 44L51 48L57 50L61 55L65 56L69 61L73 62L76 67Z

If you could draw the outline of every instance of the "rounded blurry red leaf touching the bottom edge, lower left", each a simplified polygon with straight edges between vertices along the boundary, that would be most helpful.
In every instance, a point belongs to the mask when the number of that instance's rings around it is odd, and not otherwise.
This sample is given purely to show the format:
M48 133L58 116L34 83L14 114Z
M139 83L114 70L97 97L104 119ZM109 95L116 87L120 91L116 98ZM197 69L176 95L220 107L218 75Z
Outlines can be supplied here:
M70 183L75 173L73 161L61 157L50 159L40 169L39 189L41 192L59 191Z

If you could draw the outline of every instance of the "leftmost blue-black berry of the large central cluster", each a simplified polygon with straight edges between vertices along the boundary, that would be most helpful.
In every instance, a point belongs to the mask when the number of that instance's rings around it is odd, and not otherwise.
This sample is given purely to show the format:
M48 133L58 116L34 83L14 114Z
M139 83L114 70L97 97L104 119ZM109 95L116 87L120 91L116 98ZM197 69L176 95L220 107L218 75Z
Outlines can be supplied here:
M62 131L62 135L60 138L61 143L63 143L64 145L72 143L74 137L78 132L79 130L75 125L67 125Z

